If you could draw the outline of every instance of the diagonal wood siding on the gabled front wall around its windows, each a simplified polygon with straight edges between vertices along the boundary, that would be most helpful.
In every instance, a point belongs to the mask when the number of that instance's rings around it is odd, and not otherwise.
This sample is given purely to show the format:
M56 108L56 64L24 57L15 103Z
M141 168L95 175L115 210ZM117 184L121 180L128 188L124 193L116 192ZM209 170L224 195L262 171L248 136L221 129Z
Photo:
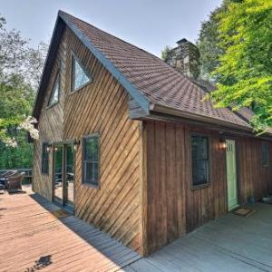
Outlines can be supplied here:
M62 44L65 48L61 45L59 51L65 53L60 57L66 63L63 94L58 106L41 115L39 128L44 136L35 143L34 190L52 198L52 170L44 177L39 167L42 141L81 141L75 152L75 216L141 252L139 121L129 118L128 93L69 29ZM93 78L92 83L73 93L72 52ZM58 59L56 67L57 63ZM100 134L99 188L82 183L82 137L93 132Z

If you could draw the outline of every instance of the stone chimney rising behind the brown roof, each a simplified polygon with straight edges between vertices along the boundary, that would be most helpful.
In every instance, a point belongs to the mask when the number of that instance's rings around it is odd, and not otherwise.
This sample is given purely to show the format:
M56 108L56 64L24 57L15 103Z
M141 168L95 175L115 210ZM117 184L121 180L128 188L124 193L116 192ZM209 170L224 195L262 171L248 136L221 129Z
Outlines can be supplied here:
M178 46L171 49L166 62L172 67L192 78L199 76L199 48L186 39L177 42Z

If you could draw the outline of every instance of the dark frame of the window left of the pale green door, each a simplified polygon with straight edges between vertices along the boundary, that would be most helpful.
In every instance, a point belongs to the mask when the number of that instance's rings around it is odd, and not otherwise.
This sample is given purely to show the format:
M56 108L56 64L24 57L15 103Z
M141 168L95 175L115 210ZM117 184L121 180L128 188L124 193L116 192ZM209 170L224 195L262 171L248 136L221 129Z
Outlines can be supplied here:
M208 180L206 183L194 185L194 180L193 180L193 158L192 158L192 139L193 137L200 137L200 138L206 138L207 139L207 159L208 160ZM202 189L205 187L209 187L211 183L211 156L210 156L210 136L209 134L204 134L204 133L197 133L197 132L191 132L189 135L189 151L190 151L190 167L191 167L191 189ZM204 159L203 159L204 160Z

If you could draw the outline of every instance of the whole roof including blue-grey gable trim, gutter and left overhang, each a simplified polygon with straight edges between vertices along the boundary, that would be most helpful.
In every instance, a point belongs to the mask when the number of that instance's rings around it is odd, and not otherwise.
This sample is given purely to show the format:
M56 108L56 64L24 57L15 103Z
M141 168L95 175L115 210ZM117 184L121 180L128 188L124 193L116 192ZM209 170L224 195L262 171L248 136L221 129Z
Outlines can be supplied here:
M57 45L66 26L139 103L144 110L141 114L145 115L137 118L148 116L151 112L163 113L171 109L170 114L173 115L190 116L191 119L202 116L203 121L222 122L241 130L250 128L248 122L234 112L226 108L216 109L210 101L203 101L204 90L159 57L61 10L55 25L56 33L53 34L54 46L45 63L49 67L43 73L43 84L38 92L39 104L35 104L37 116L40 114L37 107L40 107L47 88L49 75L46 74L51 70Z

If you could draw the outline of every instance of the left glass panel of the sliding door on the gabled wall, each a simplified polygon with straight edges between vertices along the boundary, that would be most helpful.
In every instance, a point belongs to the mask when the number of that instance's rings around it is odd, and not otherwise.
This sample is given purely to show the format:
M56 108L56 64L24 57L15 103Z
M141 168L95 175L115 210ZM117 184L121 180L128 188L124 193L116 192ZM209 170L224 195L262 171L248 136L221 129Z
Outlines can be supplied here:
M63 204L63 146L53 146L53 200Z

